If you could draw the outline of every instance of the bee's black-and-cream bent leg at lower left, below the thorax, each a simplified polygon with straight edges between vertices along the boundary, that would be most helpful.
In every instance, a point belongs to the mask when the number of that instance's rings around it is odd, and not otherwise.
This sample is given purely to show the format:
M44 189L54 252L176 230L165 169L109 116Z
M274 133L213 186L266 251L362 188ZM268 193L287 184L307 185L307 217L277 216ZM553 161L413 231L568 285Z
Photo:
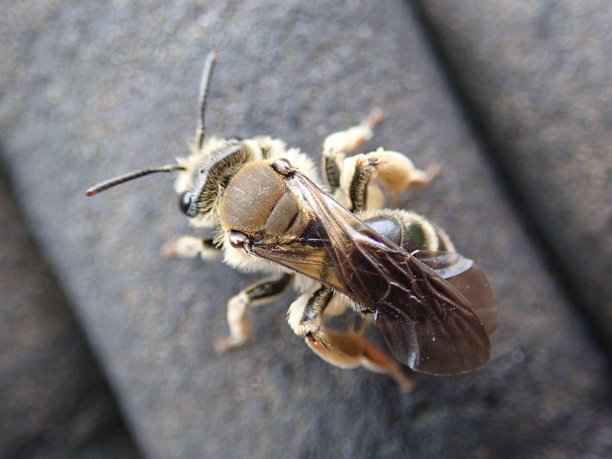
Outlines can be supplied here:
M247 341L251 334L247 307L259 306L275 299L285 291L291 280L293 280L293 274L282 274L280 277L255 283L231 297L227 310L230 336L217 340L215 350L223 353Z

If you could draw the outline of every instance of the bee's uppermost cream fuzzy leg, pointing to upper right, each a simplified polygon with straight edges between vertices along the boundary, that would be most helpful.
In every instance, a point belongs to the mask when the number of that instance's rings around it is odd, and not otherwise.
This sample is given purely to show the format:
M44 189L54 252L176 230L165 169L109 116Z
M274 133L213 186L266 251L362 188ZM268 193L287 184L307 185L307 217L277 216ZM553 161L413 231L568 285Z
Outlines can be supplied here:
M383 111L375 108L359 125L333 133L323 142L323 172L334 192L340 186L340 174L345 153L350 153L372 137L372 129L383 119Z

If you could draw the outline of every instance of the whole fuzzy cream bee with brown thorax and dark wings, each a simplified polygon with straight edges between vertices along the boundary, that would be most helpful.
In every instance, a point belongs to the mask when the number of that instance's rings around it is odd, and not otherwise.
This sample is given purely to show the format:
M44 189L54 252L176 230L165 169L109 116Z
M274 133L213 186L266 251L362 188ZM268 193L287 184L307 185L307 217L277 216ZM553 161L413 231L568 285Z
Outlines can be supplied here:
M300 296L287 313L291 329L318 356L341 368L363 366L413 382L398 362L364 337L375 323L390 351L412 370L455 375L490 359L489 336L498 326L493 291L471 259L458 254L444 231L424 217L384 209L397 197L427 185L439 172L419 170L405 155L382 148L347 157L372 136L381 120L374 110L359 125L323 143L323 181L313 161L270 136L206 136L204 113L216 54L204 64L198 124L188 157L92 187L106 188L157 172L176 172L179 207L196 228L214 228L211 239L184 236L165 256L212 260L269 278L228 302L230 335L215 343L223 352L250 337L247 310L275 299L289 286ZM326 327L347 308L359 313L359 330Z

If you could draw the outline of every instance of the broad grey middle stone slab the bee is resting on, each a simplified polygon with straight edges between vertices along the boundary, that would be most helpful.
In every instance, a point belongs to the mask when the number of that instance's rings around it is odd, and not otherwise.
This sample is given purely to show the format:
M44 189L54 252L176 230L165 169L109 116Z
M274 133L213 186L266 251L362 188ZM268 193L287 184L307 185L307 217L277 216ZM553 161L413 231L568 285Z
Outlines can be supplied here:
M612 454L605 358L510 211L405 4L24 1L0 21L4 157L148 457ZM211 48L214 133L271 133L317 154L326 133L381 106L368 147L442 163L410 204L490 274L501 327L486 368L423 376L400 394L313 355L285 323L290 295L253 310L252 343L213 351L226 300L257 276L162 261L164 242L196 234L171 177L83 196L185 154Z

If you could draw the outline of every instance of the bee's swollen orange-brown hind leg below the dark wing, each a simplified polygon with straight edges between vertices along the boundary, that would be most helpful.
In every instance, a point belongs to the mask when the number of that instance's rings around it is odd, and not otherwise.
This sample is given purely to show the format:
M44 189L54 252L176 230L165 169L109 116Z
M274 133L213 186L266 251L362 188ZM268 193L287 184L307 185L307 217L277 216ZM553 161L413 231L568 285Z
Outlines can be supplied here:
M319 329L305 337L306 344L321 359L340 368L364 367L375 373L386 373L397 381L401 390L409 392L414 381L406 376L400 365L364 338L367 322L357 332Z

